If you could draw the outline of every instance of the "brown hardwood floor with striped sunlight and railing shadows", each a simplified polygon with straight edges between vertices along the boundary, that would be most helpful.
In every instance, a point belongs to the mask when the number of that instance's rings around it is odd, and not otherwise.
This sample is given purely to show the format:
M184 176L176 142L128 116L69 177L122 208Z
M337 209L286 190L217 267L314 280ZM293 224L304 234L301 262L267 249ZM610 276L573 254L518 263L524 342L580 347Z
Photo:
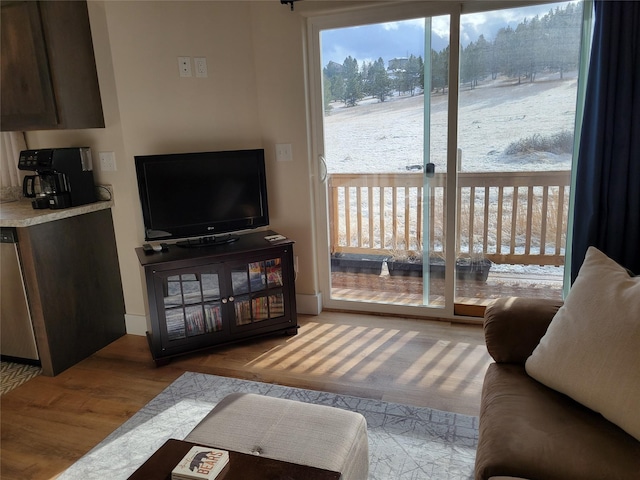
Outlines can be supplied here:
M323 312L293 337L174 359L157 368L126 335L56 377L0 397L0 476L56 478L185 371L477 415L490 357L479 325Z

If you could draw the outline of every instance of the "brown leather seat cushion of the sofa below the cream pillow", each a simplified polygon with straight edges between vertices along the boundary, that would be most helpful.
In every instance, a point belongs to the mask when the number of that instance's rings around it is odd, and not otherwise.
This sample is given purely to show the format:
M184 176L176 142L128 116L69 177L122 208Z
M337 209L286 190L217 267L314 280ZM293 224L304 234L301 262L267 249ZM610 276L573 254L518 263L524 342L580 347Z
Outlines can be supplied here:
M523 365L489 365L482 387L476 480L629 480L638 472L640 442L533 380Z

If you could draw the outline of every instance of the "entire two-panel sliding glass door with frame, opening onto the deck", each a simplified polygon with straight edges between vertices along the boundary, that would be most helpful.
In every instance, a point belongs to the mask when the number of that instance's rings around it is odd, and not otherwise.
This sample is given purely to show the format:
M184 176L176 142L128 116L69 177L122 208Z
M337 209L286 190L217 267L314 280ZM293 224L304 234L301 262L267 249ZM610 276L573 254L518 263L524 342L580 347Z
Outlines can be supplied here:
M309 21L325 306L561 297L581 3L462 7Z

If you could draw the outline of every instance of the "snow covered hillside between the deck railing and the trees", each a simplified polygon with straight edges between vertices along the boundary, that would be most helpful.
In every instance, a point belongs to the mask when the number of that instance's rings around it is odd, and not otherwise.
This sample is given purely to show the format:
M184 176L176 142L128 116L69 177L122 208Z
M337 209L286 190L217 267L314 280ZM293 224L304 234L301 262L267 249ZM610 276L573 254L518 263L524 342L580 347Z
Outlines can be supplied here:
M539 75L534 83L487 82L462 90L458 146L462 170L568 170L569 154L506 155L513 141L534 134L573 131L577 80ZM356 107L332 103L325 117L325 158L330 173L398 172L423 163L423 95L395 96L383 103L367 98ZM444 171L447 96L431 97L431 162Z

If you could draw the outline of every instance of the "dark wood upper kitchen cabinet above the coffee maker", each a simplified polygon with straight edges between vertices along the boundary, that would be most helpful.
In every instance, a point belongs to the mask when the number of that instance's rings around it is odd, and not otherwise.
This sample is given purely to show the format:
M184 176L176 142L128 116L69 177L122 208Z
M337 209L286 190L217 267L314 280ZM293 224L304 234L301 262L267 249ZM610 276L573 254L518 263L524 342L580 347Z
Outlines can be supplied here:
M0 7L0 130L104 127L87 3Z

